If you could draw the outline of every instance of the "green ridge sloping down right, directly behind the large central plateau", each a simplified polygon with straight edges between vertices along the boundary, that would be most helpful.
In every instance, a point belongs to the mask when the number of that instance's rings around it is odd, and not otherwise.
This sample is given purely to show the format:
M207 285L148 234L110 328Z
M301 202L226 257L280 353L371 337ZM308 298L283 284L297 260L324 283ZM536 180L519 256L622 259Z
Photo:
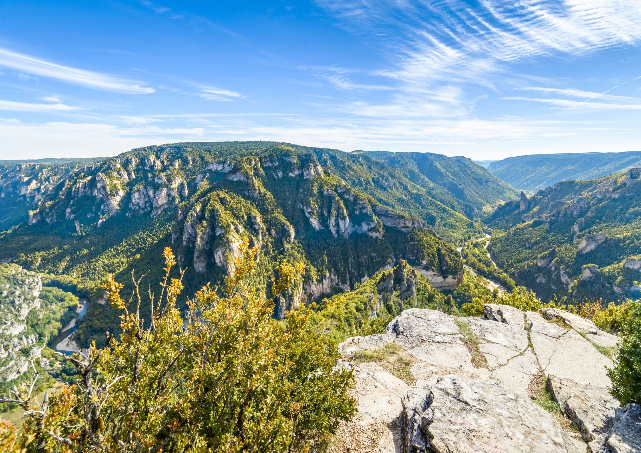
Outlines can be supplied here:
M398 170L429 196L445 206L478 218L505 201L517 199L518 192L469 158L447 157L431 152L362 152Z

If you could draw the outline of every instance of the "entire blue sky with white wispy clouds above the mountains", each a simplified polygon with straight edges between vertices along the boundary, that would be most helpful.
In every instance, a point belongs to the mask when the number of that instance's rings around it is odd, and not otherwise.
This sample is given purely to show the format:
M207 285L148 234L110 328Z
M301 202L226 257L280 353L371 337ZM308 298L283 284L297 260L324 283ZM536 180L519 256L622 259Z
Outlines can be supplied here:
M639 0L12 1L0 158L641 149Z

